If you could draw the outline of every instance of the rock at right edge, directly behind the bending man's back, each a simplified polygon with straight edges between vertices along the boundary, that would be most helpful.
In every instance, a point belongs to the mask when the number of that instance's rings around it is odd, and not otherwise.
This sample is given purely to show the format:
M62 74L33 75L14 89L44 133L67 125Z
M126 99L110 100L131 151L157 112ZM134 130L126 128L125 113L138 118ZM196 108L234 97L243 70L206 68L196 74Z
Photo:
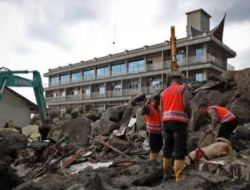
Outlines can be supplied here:
M231 107L231 112L235 114L239 123L250 122L250 110L239 105L233 105Z

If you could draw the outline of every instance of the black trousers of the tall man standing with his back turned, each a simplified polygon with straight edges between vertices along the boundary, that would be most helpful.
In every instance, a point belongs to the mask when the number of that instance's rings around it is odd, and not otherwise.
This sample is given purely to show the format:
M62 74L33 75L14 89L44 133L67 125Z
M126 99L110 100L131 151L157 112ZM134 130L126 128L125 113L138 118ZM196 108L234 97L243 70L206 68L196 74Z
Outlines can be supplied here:
M164 158L171 158L174 152L175 160L184 160L187 155L187 123L164 121L163 124Z

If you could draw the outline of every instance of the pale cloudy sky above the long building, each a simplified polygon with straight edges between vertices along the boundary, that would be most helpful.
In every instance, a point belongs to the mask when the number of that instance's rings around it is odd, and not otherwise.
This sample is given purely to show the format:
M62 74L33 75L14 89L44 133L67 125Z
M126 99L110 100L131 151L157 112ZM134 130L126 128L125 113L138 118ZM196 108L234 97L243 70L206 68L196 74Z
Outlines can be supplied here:
M183 38L185 13L203 8L212 16L211 29L227 13L223 42L237 53L229 63L243 69L250 60L249 7L249 0L0 0L0 67L43 75L50 68L164 42L172 25ZM35 102L33 89L14 90Z

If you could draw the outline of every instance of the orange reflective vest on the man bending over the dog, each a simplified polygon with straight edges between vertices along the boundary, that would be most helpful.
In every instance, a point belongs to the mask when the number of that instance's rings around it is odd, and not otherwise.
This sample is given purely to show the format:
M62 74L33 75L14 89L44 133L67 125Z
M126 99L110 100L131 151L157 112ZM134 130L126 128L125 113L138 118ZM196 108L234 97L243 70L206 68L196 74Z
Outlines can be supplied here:
M235 119L235 115L232 114L228 109L220 106L210 106L208 109L215 109L217 112L219 123L225 123Z

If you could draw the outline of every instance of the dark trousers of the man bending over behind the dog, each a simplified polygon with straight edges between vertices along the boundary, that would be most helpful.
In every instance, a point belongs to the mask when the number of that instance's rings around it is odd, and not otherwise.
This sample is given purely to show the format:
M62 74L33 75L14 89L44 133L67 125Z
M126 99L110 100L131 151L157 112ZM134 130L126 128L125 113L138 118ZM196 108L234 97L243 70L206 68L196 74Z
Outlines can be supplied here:
M230 136L238 125L237 119L222 123L219 129L218 137L223 137L230 140Z

